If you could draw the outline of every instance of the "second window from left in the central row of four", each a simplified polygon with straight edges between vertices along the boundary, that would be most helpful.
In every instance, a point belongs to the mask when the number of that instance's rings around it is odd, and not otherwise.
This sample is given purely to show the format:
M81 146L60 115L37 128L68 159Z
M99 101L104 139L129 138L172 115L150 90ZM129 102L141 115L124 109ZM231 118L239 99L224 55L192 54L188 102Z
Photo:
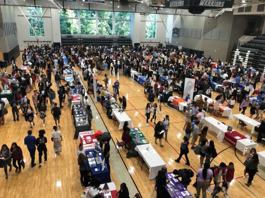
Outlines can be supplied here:
M80 10L81 34L96 34L96 11Z

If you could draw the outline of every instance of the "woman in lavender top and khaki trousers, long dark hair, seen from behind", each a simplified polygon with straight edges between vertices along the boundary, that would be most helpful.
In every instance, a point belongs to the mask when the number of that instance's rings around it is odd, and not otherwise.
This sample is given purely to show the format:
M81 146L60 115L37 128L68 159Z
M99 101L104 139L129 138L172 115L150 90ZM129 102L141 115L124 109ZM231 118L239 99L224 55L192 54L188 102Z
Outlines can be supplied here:
M209 163L204 163L203 168L200 168L196 173L196 181L197 181L197 193L195 193L195 197L199 198L202 190L202 197L206 198L206 189L211 185L211 181L213 180L213 172L210 168ZM222 173L222 171L220 171Z

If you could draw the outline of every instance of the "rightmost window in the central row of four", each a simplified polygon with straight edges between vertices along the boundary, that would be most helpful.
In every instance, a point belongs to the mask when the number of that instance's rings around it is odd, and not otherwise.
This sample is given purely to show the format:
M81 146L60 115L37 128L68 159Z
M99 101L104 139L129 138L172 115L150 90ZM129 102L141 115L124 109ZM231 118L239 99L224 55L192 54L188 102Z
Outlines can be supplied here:
M129 12L115 12L115 35L130 35Z

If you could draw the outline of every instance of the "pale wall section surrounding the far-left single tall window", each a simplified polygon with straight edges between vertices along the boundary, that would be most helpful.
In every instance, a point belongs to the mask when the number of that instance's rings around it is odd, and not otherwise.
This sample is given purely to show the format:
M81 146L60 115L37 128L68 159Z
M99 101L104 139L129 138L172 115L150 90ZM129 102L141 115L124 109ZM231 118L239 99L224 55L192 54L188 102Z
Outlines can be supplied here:
M19 40L19 49L20 51L27 48L28 45L37 45L37 40L35 36L30 36L29 34L29 24L21 11L16 9L16 24L18 30L18 40ZM27 16L27 7L21 7L24 14ZM44 13L45 8L42 8ZM51 11L52 10L52 11ZM47 9L43 17L43 26L44 26L44 36L38 37L39 45L49 44L53 42L61 42L61 33L60 33L60 21L59 21L59 11L58 9Z

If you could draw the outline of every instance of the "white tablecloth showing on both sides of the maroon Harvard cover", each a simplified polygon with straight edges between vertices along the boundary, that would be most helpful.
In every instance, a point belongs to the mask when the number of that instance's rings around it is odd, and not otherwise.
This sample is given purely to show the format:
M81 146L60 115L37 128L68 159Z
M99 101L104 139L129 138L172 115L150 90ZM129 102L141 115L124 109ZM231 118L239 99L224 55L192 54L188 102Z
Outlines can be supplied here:
M235 130L233 130L235 131ZM225 133L229 133L229 131L227 131L227 129L222 130L218 135L217 135L217 139L220 142L223 142ZM247 148L257 148L258 144L254 141L251 141L250 139L246 138L246 139L241 139L241 140L237 140L236 141L236 148L240 151L243 152L243 155L245 155L246 153L246 149Z

